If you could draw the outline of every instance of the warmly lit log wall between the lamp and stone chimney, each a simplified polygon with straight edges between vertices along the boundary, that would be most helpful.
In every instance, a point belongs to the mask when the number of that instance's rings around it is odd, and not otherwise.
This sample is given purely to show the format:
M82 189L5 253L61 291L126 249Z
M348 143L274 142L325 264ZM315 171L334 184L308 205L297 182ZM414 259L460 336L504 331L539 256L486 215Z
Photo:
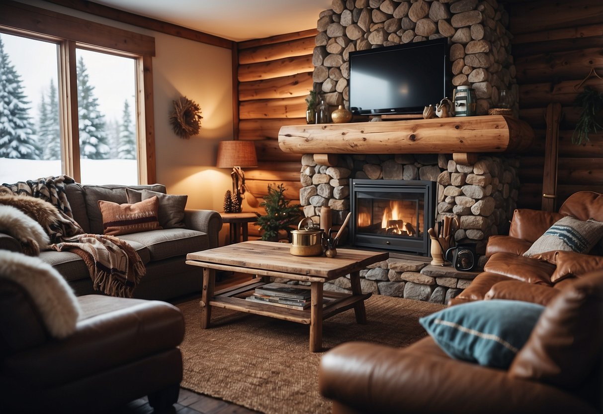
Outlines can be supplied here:
M268 185L283 183L285 197L299 203L301 155L279 148L283 125L306 123L311 91L315 29L238 43L239 139L254 141L258 168L245 170L245 183L261 202ZM244 211L265 214L247 203ZM249 225L251 238L259 228Z

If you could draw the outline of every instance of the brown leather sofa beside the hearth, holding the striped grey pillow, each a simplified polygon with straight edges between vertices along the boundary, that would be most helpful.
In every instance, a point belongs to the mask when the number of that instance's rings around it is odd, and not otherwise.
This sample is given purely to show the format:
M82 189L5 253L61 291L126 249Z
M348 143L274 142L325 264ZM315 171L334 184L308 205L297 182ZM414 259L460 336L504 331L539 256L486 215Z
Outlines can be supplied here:
M603 195L592 191L572 194L559 212L517 209L508 236L488 239L484 272L450 299L449 305L481 299L516 299L546 305L572 279L603 269L603 240L590 254L553 251L522 256L560 218L603 221Z

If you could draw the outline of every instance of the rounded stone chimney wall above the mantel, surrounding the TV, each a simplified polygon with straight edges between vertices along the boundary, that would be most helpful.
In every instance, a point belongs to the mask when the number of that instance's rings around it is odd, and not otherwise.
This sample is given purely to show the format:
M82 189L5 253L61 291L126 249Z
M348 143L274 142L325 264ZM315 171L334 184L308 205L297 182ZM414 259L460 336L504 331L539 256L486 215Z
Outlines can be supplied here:
M503 89L510 91L517 112L519 89L507 26L507 11L496 0L333 0L317 22L316 89L330 106L349 107L350 52L447 37L452 84L475 89L478 115L499 107Z

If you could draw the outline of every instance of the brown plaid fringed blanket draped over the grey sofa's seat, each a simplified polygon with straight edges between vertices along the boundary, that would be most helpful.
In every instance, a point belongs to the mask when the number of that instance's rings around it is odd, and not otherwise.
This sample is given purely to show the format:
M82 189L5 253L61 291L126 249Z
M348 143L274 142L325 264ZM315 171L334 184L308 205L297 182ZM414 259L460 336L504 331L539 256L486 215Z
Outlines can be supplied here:
M107 295L131 298L133 288L145 274L136 250L117 237L80 234L51 248L57 252L71 250L80 256L86 262L94 290Z

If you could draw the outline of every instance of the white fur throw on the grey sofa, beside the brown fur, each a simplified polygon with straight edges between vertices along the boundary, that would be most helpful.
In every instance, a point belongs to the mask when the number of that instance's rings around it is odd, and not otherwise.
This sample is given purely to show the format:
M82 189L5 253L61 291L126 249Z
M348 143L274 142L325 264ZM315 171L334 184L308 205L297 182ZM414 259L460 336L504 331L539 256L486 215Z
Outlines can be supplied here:
M0 205L0 232L16 238L29 256L40 255L40 250L47 249L50 243L42 226L13 206Z

